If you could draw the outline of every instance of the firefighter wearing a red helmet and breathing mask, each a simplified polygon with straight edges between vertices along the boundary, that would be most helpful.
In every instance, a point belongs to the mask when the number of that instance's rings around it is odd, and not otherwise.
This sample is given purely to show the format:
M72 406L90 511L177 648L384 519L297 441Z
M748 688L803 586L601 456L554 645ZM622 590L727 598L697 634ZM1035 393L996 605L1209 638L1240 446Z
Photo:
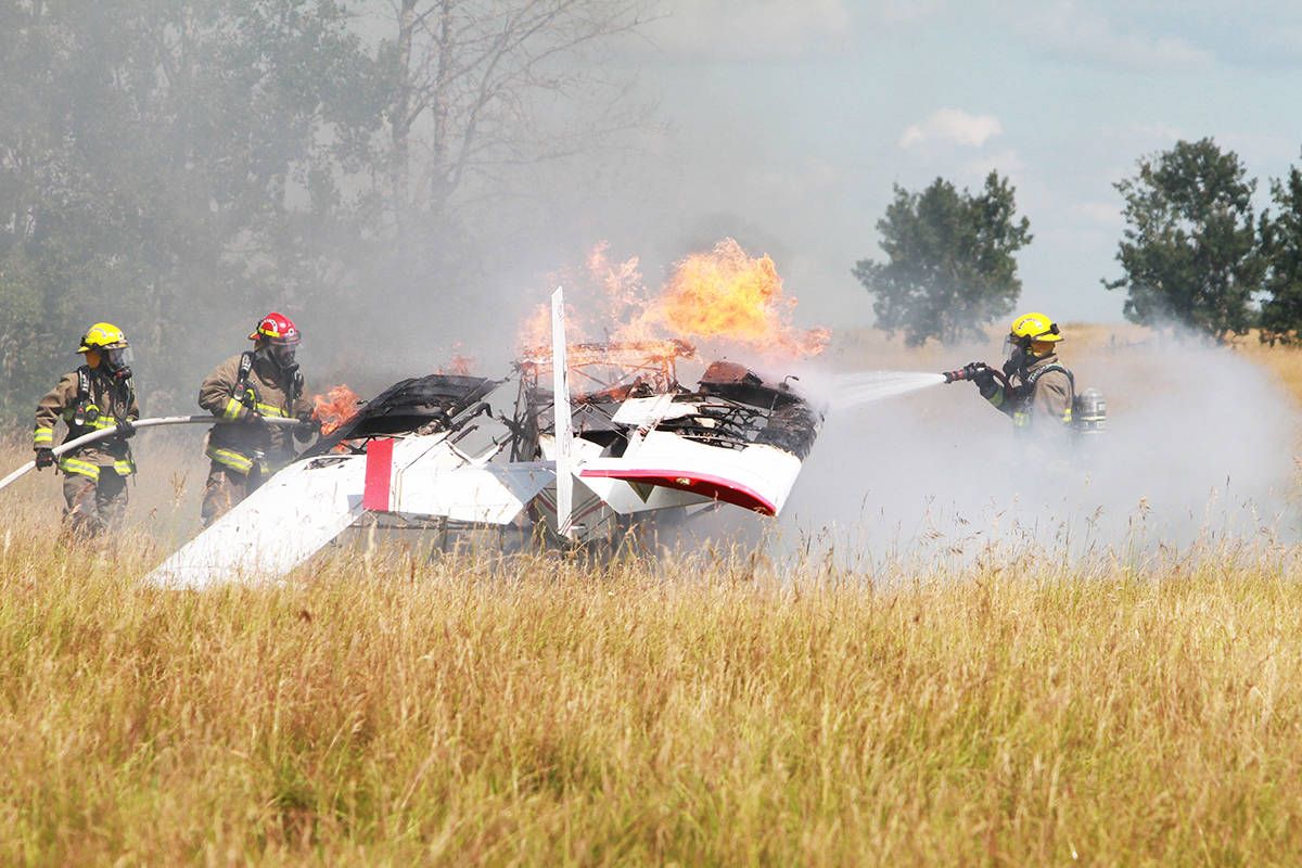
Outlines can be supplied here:
M293 461L292 437L306 441L320 429L311 418L311 401L303 397L296 360L299 336L290 319L267 314L249 340L253 350L232 355L199 387L199 406L223 420L208 431L212 466L203 489L204 527ZM264 424L268 416L297 418L302 424L290 432L288 426Z

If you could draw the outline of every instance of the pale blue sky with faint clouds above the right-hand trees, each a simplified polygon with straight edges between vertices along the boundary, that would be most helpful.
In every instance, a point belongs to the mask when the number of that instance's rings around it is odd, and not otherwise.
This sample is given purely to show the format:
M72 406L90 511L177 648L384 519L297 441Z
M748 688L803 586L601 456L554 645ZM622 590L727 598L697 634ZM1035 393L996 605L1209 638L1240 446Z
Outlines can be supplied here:
M612 252L740 226L802 324L871 323L849 269L880 258L892 185L996 169L1035 239L1021 308L1120 321L1116 181L1178 139L1236 151L1268 200L1302 165L1302 4L667 0L638 52L667 129L634 157ZM617 182L612 182L617 186ZM668 224L678 228L668 232ZM694 229L695 228L695 229ZM754 252L762 252L754 250Z

